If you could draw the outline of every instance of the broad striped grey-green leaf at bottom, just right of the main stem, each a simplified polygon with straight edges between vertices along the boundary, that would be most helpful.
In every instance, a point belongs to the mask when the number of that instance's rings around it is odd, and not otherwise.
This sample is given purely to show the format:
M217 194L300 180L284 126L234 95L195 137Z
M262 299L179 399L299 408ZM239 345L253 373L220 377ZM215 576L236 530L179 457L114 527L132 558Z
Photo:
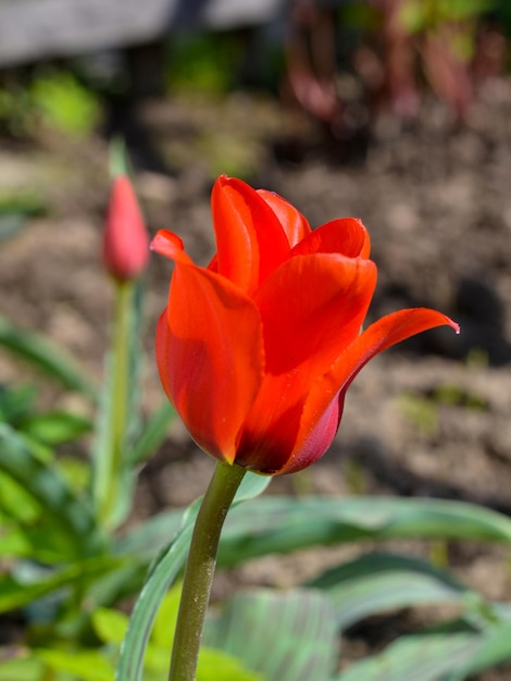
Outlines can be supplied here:
M237 593L210 620L205 642L266 681L327 681L338 656L335 611L314 590Z

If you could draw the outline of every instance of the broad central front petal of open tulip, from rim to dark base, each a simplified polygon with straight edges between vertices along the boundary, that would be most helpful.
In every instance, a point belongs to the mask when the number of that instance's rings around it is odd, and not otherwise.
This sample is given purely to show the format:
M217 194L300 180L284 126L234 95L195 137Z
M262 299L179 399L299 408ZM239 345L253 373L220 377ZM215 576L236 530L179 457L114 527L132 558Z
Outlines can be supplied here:
M237 462L256 462L266 472L284 466L295 449L307 395L359 334L375 284L370 260L317 253L287 261L256 293L265 376Z

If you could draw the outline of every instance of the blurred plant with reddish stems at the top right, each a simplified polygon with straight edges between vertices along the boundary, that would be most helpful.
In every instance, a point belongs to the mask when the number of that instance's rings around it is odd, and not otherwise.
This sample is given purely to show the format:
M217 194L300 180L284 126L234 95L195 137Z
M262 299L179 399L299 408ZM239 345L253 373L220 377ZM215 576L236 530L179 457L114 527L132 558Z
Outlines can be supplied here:
M494 4L493 0L367 0L364 12L348 13L348 21L358 23L366 36L356 66L379 104L390 100L400 116L414 116L422 73L462 121L485 75L486 66L476 65L488 61L489 34L483 16ZM491 64L493 72L498 69Z

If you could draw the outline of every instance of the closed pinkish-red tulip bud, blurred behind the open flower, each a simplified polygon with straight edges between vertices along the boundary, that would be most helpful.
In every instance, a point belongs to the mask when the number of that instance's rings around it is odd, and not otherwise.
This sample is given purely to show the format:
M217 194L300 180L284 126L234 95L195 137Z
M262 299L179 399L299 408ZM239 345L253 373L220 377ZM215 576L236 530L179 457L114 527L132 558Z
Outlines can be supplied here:
M119 282L138 278L149 260L149 236L125 175L113 182L102 247L104 268Z

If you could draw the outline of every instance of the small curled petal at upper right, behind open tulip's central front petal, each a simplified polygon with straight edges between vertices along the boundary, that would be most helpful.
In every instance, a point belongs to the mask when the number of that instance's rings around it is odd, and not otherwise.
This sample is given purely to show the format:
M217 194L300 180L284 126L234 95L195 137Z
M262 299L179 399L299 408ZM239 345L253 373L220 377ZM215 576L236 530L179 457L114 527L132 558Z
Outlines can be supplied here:
M371 242L361 220L341 218L314 230L295 246L291 256L308 253L340 253L348 258L369 258Z

